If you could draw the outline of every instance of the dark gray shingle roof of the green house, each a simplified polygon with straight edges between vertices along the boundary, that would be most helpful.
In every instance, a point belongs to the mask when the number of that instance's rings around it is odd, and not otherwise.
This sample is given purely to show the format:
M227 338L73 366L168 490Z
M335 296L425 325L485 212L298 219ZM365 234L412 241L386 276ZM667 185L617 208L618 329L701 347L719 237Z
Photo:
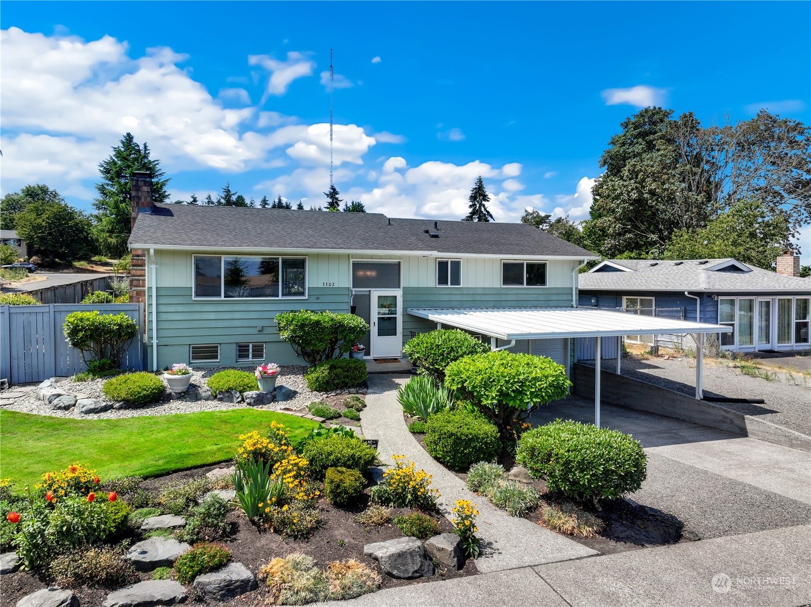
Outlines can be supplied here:
M438 237L431 237L431 233ZM159 204L140 214L133 248L254 251L382 251L597 259L527 224L389 219L379 213Z

